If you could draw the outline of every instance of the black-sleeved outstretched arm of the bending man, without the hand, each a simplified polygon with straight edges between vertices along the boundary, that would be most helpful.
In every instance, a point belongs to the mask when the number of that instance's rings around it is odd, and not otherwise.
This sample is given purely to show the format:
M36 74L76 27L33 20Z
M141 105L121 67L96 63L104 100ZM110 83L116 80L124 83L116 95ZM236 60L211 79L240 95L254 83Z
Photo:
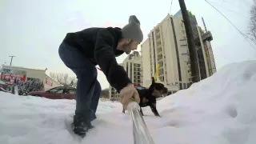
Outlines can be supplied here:
M108 29L102 29L98 32L95 43L94 58L98 66L106 75L110 86L113 86L118 92L131 83L128 74L118 65L113 52L114 36Z

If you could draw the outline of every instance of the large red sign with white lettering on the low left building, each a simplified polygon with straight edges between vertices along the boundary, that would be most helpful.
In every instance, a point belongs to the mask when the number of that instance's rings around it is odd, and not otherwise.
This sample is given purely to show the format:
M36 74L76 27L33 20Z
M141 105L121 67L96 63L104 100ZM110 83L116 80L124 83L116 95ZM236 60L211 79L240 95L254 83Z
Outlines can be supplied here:
M15 79L25 82L26 74L13 74L13 73L2 72L2 81L6 82L6 84L12 85Z

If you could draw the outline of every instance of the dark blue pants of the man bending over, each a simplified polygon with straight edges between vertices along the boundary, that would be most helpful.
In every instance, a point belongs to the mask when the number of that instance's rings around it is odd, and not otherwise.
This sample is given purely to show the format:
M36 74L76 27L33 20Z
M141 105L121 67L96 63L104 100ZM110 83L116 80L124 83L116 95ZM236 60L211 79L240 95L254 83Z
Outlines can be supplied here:
M78 78L75 114L85 117L88 121L93 121L96 118L95 113L102 90L97 80L96 67L78 49L65 42L59 46L58 54Z

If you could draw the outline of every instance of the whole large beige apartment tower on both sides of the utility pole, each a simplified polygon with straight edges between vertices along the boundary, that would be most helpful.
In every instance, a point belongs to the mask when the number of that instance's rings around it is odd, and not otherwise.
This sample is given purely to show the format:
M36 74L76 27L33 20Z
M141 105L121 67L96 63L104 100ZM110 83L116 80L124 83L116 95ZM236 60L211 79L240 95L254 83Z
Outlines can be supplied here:
M197 43L200 78L207 78L216 72L210 46L212 35L210 32L204 33L195 16L191 12L189 15ZM148 38L142 43L142 64L143 86L150 86L150 79L154 76L158 64L158 82L166 85L169 94L186 89L192 84L190 54L181 11L174 16L168 14L150 31Z

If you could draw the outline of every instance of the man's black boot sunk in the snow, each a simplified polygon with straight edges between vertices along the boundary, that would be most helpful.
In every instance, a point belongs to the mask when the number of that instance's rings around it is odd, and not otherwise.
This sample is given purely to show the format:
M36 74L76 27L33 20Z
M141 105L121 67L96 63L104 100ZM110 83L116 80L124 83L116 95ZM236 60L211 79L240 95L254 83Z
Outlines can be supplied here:
M86 117L82 115L74 115L74 134L78 134L82 137L86 136L86 132L92 129L94 126L91 125L90 119L86 119Z

